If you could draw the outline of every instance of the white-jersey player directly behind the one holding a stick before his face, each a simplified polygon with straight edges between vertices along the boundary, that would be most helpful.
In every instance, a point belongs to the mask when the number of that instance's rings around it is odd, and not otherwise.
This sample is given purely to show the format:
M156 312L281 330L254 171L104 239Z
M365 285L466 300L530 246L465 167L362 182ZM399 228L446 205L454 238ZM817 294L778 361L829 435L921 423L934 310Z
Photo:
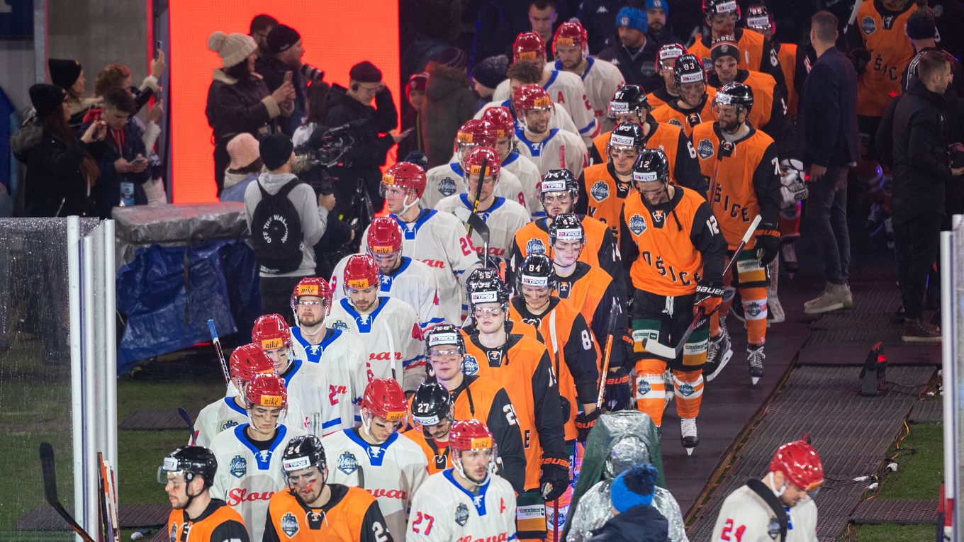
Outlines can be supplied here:
M466 176L466 159L469 157L469 152L478 147L495 147L495 141L495 125L492 123L470 119L463 124L456 134L455 154L452 159L447 164L425 172L425 193L422 194L421 205L425 208L435 208L444 198L465 194L466 183L462 179ZM528 208L529 191L522 186L519 178L509 174L502 180L505 182L499 183L495 195ZM528 209L529 212L533 212L537 208Z

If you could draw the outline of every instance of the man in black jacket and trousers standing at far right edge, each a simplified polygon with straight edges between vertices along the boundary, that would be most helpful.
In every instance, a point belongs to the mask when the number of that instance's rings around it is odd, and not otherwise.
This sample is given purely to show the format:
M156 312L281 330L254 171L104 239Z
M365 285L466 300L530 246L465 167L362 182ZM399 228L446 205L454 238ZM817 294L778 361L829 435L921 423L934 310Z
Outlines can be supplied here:
M894 112L894 235L907 248L897 274L904 304L904 342L940 342L937 326L922 319L924 285L933 266L941 222L946 214L945 183L964 175L948 165L945 97L951 63L940 51L918 59L917 81Z

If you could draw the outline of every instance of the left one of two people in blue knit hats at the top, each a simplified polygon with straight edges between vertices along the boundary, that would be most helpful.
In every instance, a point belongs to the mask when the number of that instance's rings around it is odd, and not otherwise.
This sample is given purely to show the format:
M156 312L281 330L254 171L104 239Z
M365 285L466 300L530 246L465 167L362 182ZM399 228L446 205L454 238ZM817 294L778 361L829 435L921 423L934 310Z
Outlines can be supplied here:
M659 45L646 39L648 16L639 8L626 7L616 15L619 41L600 52L599 58L609 61L623 73L627 85L639 85L647 93L659 87L656 72L656 50Z

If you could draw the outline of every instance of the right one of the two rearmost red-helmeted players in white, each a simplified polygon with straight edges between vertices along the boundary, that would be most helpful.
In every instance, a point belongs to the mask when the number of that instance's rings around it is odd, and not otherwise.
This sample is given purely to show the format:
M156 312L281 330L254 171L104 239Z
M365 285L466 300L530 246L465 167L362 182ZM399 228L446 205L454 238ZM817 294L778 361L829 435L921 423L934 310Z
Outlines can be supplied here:
M575 73L582 79L600 131L611 130L614 124L608 116L609 98L623 86L623 73L608 62L589 56L589 39L578 22L559 25L552 38L552 53L556 60L551 68Z

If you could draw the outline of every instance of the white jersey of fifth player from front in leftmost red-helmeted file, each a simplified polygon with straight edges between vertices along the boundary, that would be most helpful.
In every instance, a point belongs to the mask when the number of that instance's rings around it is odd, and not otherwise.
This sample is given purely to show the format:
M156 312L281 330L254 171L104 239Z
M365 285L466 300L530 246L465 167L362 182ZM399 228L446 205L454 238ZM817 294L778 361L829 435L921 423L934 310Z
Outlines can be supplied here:
M356 311L348 299L338 300L332 304L325 323L335 329L350 330L362 338L368 352L365 362L368 382L394 378L403 390L415 392L426 376L418 314L397 299L379 296L378 300L378 307L370 314Z

